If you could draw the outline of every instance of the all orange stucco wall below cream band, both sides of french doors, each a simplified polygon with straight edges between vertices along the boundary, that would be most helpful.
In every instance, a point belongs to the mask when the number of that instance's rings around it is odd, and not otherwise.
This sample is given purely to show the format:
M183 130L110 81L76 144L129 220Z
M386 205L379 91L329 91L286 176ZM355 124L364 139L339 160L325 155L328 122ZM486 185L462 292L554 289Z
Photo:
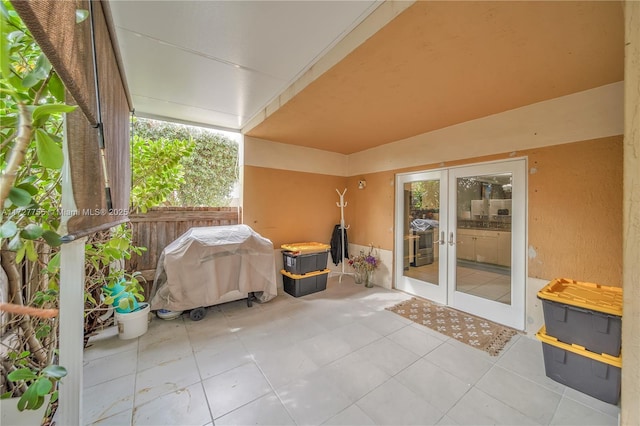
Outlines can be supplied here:
M348 178L247 166L245 223L276 247L328 242L340 219L335 188L347 188L349 242L393 250L396 173L513 156L528 158L528 275L620 286L622 136Z

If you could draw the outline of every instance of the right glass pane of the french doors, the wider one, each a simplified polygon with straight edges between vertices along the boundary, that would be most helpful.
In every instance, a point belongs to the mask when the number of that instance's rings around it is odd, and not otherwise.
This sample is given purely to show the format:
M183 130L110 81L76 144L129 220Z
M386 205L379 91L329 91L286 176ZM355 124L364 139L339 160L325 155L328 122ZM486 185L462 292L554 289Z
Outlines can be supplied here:
M512 174L457 178L456 291L511 304Z

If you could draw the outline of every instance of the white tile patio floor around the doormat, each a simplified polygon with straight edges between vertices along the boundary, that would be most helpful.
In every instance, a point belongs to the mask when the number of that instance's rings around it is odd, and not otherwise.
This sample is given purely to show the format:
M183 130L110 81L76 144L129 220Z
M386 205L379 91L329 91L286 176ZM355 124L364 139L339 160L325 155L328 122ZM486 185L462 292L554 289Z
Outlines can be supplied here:
M524 335L491 357L384 308L408 299L352 278L192 322L106 330L85 350L96 425L617 425L618 407L547 378Z

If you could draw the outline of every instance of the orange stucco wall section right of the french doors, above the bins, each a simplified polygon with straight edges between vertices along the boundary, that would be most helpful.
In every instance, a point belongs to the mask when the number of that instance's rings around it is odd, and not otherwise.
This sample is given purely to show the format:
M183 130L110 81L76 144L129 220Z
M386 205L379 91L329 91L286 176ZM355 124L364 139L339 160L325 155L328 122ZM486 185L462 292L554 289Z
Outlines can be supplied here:
M529 276L622 286L622 136L529 156Z

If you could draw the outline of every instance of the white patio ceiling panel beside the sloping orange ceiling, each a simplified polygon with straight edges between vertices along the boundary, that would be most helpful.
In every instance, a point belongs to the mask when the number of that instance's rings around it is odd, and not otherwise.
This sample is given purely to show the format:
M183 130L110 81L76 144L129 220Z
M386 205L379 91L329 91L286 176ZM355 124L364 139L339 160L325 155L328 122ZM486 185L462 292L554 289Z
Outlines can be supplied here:
M380 1L109 2L136 115L242 128Z

